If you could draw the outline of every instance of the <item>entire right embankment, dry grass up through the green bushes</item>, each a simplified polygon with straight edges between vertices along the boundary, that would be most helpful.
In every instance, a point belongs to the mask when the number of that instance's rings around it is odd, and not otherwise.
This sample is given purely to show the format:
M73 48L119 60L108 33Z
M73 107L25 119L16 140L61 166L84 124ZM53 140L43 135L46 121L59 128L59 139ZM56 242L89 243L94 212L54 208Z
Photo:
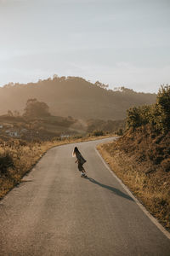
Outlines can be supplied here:
M127 111L127 131L99 146L111 169L167 230L170 230L170 86L156 104Z

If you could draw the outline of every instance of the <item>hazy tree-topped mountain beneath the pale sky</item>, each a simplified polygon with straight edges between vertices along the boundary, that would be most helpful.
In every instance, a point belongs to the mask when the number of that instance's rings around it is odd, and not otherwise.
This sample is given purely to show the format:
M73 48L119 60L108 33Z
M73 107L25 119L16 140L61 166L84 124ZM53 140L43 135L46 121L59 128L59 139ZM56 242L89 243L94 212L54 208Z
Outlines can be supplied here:
M26 102L37 98L48 104L49 112L76 119L124 119L127 108L156 101L156 94L107 90L105 84L92 84L77 77L57 77L30 84L0 87L0 114L9 110L23 113Z

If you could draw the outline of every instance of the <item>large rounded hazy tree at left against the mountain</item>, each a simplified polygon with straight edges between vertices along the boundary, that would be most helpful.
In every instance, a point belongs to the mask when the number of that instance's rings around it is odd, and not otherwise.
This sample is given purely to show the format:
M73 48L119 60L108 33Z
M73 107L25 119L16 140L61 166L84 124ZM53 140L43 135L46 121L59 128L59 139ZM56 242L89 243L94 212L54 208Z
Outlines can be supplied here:
M42 117L49 116L49 108L45 102L38 102L37 99L29 99L26 102L25 112L26 117Z

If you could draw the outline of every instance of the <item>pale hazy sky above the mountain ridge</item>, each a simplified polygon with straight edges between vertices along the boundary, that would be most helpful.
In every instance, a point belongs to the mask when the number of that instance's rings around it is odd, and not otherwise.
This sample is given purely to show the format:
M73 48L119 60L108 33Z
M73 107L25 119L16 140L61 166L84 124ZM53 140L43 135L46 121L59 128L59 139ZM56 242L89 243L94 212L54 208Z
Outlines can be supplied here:
M0 85L59 76L170 84L170 0L0 0Z

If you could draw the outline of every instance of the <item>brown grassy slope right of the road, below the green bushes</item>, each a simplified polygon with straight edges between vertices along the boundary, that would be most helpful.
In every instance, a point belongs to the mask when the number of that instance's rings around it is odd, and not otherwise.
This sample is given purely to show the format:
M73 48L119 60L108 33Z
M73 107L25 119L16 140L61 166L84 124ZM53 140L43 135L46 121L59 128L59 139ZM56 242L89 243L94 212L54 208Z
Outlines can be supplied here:
M112 170L170 231L170 134L138 129L100 146Z

